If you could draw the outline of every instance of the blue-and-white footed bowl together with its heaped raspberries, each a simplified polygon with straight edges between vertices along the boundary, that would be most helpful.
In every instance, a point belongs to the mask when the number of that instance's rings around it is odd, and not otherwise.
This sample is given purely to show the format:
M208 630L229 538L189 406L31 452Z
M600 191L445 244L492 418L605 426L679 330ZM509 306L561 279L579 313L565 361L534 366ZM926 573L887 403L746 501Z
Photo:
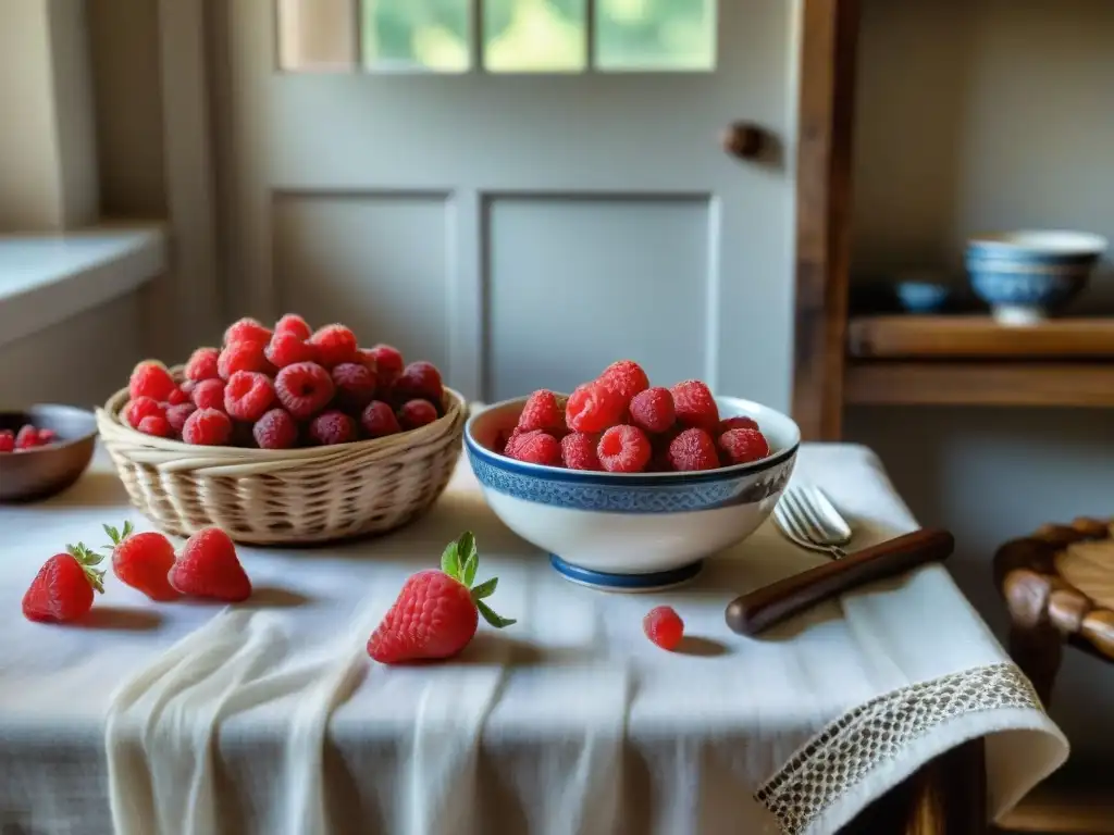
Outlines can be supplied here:
M793 472L801 433L698 380L652 385L631 360L570 394L473 412L465 448L502 522L566 579L648 591L693 579L753 533Z

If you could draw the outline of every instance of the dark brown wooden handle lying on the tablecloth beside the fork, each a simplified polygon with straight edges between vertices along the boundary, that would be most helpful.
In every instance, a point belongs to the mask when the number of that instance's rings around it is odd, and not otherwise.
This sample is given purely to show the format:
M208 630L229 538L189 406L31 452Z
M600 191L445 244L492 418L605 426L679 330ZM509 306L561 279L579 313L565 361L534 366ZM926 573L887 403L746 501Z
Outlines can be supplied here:
M905 573L926 562L942 562L955 547L955 538L941 530L913 531L881 542L735 598L727 606L727 626L740 635L758 635L859 586Z

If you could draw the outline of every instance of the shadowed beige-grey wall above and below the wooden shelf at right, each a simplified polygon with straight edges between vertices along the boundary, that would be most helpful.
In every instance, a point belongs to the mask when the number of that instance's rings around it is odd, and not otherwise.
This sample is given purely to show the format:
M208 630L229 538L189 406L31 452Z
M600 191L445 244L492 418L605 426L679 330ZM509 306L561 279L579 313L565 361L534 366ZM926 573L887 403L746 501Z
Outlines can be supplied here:
M960 265L971 232L1062 226L1114 240L1114 3L866 0L854 272ZM961 273L956 275L962 282ZM1114 298L1110 262L1081 298ZM1005 635L990 558L1048 521L1114 515L1114 410L854 409L951 571ZM1111 756L1114 666L1069 651L1053 716L1078 757Z

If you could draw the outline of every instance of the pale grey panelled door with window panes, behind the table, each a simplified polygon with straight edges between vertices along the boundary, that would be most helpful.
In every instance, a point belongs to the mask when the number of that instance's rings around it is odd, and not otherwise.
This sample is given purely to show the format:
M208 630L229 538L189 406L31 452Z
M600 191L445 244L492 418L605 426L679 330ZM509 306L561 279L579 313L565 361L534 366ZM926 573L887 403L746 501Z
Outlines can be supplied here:
M344 322L472 397L631 357L789 406L792 0L216 8L232 313Z

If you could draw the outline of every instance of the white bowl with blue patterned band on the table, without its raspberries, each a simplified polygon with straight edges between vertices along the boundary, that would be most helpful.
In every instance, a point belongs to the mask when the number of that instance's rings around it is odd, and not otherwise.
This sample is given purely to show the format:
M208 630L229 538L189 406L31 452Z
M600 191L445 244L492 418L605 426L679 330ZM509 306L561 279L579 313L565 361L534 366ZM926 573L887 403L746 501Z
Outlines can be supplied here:
M769 458L693 473L606 473L515 461L496 452L526 397L477 410L465 449L488 505L515 533L550 554L566 579L613 591L685 582L702 560L746 539L781 497L801 441L788 416L716 397L722 418L746 415Z

